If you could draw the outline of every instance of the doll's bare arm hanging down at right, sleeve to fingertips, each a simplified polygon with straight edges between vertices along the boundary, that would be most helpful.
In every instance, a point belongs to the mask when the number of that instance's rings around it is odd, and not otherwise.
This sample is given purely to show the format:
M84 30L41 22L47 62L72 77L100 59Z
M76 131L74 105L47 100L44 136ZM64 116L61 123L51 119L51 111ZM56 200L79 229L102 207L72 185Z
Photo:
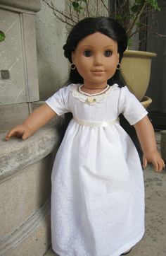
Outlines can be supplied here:
M155 132L150 120L147 116L143 117L141 121L134 124L134 128L143 151L143 167L145 168L150 162L153 163L155 170L160 172L165 167L165 163L157 151Z

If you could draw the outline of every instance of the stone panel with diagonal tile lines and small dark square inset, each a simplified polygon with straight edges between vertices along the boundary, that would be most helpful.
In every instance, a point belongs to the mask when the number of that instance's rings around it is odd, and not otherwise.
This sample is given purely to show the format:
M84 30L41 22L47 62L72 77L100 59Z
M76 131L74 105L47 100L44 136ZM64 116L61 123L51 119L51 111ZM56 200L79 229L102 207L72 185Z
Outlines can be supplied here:
M0 8L0 24L6 34L0 45L0 71L9 74L8 79L0 78L0 105L37 101L34 15Z

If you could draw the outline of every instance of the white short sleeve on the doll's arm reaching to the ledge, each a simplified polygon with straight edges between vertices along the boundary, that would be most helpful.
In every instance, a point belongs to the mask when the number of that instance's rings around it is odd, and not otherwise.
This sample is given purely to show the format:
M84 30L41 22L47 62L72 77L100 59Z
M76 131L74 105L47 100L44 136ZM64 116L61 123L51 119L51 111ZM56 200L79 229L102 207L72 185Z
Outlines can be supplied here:
M65 86L60 88L56 93L54 93L49 99L46 100L46 104L51 107L57 115L63 115L69 110L69 93L70 86Z

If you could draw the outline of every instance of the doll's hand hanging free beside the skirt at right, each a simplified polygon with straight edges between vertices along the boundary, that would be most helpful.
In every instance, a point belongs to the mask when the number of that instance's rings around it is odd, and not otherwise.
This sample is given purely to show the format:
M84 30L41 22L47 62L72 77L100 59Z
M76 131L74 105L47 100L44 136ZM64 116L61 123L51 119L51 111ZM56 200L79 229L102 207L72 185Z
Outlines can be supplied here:
M158 151L148 151L143 153L143 168L146 168L148 162L153 164L158 173L160 173L162 168L165 168L165 162L160 157Z

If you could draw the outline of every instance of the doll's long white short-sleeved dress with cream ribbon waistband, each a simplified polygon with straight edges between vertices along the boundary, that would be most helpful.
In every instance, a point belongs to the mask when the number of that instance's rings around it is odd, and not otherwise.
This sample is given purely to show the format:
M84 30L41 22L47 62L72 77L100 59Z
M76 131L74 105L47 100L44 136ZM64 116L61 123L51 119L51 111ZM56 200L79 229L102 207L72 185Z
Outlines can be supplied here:
M144 187L138 153L117 117L135 124L147 112L126 86L95 97L78 86L46 100L57 115L75 118L53 165L52 246L60 256L119 256L143 236Z

